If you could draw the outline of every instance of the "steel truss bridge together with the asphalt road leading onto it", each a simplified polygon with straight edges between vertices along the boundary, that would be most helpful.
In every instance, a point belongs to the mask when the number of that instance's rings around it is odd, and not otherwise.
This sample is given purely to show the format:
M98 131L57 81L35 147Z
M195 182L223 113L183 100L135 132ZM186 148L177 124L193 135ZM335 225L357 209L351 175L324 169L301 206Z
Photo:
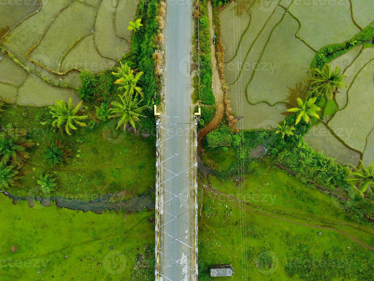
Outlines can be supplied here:
M188 4L186 4L188 3ZM191 105L191 2L168 3L165 112L156 116L156 281L197 280L197 121Z

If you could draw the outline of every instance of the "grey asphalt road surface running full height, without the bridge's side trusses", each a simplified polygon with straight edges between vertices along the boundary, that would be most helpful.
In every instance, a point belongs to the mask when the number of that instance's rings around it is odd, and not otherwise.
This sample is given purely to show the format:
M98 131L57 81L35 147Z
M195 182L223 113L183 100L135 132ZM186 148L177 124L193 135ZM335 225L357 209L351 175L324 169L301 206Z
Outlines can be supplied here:
M166 12L163 235L159 280L194 280L194 226L190 202L193 181L193 121L190 64L193 32L191 1L168 1ZM178 197L175 197L175 196ZM193 203L193 202L191 202ZM192 211L191 211L192 210ZM175 218L177 217L177 218ZM177 240L176 240L177 239ZM191 248L192 247L192 248ZM175 262L179 261L179 262Z

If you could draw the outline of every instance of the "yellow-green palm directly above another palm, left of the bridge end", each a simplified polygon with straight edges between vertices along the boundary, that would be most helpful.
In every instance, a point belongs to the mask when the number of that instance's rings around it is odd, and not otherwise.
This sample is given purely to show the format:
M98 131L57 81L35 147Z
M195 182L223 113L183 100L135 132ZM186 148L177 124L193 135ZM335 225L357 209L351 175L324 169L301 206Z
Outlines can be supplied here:
M130 67L125 63L125 65L120 62L121 67L117 67L117 72L112 72L112 74L116 77L119 77L114 84L119 85L119 90L126 90L125 94L140 94L143 96L143 92L139 86L137 86L138 81L140 80L141 76L144 72L138 72L134 75L134 70L130 69Z

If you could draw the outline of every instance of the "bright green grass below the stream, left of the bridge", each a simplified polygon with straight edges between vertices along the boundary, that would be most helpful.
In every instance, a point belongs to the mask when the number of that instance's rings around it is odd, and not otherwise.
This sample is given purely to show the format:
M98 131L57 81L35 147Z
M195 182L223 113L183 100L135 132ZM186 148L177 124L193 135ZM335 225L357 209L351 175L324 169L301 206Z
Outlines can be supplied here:
M0 215L1 280L154 279L154 250L152 260L148 246L154 244L154 223L149 222L154 212L95 214L53 202L49 207L34 202L30 208L28 202L14 205L0 194ZM143 279L137 278L140 274Z

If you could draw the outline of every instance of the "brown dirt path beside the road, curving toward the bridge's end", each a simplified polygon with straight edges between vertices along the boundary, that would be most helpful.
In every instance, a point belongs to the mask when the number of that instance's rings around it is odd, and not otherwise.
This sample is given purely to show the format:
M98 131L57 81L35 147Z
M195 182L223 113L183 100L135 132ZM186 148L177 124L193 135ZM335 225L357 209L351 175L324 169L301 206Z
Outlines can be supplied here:
M217 62L215 60L215 45L213 44L213 12L212 4L208 1L208 14L209 14L209 23L210 23L210 38L211 38L211 58L212 58L212 67L213 67L213 93L216 100L217 110L215 112L214 118L211 122L206 124L206 126L197 133L197 154L200 155L200 152L203 151L201 147L201 142L203 138L208 135L209 132L214 130L218 124L220 124L223 114L224 114L224 104L223 104L223 91L220 81L220 76L218 74Z

